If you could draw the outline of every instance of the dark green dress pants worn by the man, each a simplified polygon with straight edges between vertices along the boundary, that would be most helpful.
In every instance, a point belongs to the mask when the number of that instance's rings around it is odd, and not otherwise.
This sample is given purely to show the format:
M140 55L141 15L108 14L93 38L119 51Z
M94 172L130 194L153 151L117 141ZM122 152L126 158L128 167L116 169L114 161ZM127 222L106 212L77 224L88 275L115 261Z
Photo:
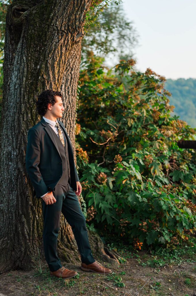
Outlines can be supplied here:
M86 264L95 262L88 240L86 220L80 209L78 197L70 183L67 186L57 184L53 195L56 202L52 205L46 205L45 201L42 200L44 252L49 269L56 271L62 267L57 255L57 237L60 229L61 212L72 228L81 261Z

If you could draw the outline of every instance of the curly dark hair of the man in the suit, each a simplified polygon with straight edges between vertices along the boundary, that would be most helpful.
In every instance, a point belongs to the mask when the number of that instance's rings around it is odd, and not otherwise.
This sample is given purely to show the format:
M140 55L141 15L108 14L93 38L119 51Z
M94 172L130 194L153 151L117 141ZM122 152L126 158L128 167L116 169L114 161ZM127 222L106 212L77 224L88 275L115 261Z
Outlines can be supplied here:
M55 96L60 96L62 98L60 91L53 91L52 89L47 89L38 96L38 100L35 104L39 115L44 116L46 114L48 103L52 106L56 103Z

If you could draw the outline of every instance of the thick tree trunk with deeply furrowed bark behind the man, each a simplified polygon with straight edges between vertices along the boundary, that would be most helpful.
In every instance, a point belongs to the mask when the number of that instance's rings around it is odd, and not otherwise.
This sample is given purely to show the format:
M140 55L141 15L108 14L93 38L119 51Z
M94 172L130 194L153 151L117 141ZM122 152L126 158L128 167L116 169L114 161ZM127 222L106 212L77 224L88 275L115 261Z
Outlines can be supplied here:
M27 131L41 119L35 108L37 95L45 89L61 91L65 107L62 122L75 150L81 40L91 2L14 1L9 6L0 123L0 272L27 270L38 249L43 254L41 201L32 198L25 167ZM99 255L109 259L98 237L96 242ZM66 262L80 261L71 227L62 216L58 254Z

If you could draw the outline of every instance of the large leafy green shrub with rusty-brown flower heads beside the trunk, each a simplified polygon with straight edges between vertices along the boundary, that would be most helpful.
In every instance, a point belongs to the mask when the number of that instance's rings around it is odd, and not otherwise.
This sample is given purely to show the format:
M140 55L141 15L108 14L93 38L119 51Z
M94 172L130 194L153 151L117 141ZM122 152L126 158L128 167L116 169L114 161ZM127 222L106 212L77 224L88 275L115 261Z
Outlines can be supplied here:
M87 221L103 236L174 247L193 232L195 151L177 141L195 129L171 117L165 78L134 60L105 69L89 53L80 73L78 161Z

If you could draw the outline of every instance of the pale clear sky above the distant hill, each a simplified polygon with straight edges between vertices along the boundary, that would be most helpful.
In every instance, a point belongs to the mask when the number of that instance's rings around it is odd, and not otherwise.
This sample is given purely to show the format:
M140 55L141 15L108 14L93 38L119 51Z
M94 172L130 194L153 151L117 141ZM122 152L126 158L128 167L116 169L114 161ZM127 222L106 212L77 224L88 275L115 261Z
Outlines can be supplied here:
M137 69L167 79L196 78L196 1L122 0L139 35Z

